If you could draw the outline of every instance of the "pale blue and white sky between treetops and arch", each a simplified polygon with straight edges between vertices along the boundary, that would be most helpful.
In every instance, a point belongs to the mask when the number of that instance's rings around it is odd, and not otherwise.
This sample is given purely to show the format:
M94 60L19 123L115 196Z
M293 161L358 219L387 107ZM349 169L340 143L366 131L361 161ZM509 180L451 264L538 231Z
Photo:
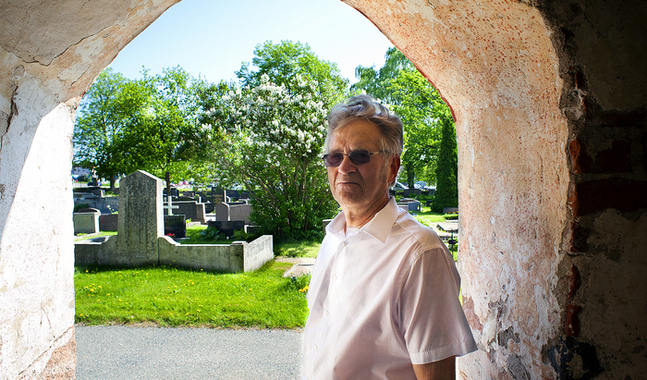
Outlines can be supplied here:
M299 41L341 75L356 82L355 68L381 68L393 45L373 23L340 0L183 0L128 44L110 67L141 77L181 66L217 83L236 79L241 63L267 40Z

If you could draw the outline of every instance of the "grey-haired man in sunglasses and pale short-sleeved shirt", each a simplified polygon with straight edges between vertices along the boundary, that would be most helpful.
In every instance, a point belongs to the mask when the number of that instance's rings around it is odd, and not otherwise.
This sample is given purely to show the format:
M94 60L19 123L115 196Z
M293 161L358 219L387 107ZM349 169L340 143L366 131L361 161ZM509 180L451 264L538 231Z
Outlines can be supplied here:
M455 357L476 350L451 255L389 197L402 147L400 119L366 95L328 117L342 212L312 273L304 379L455 379Z

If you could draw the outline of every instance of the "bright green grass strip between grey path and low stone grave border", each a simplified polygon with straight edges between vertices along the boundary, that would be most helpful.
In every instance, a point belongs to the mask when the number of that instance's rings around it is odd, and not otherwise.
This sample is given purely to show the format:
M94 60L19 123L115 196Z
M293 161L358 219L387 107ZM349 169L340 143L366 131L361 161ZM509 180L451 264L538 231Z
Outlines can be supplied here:
M310 276L281 275L292 264L220 274L171 267L76 268L76 322L214 328L303 327Z

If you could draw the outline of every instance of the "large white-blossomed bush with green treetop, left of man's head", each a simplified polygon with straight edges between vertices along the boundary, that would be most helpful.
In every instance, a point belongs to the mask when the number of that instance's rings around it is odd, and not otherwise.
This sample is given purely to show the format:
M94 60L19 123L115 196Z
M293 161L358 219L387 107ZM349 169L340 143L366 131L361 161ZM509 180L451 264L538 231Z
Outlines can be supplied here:
M216 177L248 189L250 219L264 233L312 238L337 209L320 154L328 110L345 82L307 45L266 43L256 54L258 71L243 65L238 73L247 86L221 83L203 114L219 136Z

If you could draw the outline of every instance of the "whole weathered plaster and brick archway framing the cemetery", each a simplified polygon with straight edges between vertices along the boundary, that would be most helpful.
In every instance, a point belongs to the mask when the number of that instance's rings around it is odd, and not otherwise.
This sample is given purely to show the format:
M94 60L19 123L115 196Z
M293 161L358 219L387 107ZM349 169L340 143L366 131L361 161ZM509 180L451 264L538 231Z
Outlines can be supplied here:
M119 50L176 2L2 4L6 378L73 374L74 111ZM644 300L630 289L647 285L647 78L644 58L632 52L645 47L646 6L345 2L416 64L455 116L467 242L459 266L480 348L459 361L459 372L488 379L638 377L647 362ZM57 196L43 197L43 188ZM605 280L618 274L620 285Z

